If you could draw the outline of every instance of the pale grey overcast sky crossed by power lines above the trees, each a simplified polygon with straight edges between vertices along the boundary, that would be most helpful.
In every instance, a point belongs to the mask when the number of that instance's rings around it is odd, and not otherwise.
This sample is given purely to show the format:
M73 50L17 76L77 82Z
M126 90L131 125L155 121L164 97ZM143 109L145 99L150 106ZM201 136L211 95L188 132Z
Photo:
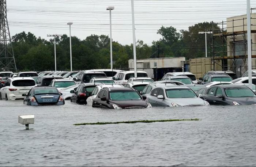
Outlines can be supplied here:
M132 43L131 0L7 0L11 35L22 31L49 39L47 34L68 34L67 22L74 22L72 35L85 39L91 34L109 35L109 11L113 5L112 38ZM136 40L151 42L161 38L157 30L173 26L187 30L204 21L221 22L246 14L246 0L135 0ZM256 1L251 0L251 7Z

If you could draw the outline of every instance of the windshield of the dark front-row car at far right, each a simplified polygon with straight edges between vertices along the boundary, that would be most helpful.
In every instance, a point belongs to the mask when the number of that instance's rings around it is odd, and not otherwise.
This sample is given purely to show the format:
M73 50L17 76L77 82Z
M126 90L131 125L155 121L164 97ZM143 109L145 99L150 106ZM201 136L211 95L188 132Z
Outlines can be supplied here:
M225 88L225 92L230 98L256 97L255 93L249 88Z

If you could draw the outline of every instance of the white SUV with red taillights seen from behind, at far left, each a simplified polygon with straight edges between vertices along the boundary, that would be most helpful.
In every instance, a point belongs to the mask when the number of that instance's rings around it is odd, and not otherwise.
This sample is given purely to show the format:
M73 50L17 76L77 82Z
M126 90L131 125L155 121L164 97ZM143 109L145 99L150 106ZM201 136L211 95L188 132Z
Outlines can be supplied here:
M36 86L35 80L31 77L8 78L0 90L0 99L24 99L22 94L27 94L31 88Z

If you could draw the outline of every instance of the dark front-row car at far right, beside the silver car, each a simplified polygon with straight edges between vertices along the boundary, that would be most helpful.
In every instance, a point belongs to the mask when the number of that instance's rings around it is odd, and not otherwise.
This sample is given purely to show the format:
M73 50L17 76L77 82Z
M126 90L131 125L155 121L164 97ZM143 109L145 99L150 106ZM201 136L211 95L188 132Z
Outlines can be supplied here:
M256 104L256 94L247 86L219 85L208 88L200 95L210 105L252 105Z

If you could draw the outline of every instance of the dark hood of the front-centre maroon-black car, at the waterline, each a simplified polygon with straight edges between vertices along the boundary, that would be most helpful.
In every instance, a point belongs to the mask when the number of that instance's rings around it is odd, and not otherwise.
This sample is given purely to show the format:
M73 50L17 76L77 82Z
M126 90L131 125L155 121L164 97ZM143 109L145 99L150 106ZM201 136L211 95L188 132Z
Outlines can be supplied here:
M129 101L110 101L111 104L115 104L123 109L126 108L146 108L148 103L144 100L129 100Z

